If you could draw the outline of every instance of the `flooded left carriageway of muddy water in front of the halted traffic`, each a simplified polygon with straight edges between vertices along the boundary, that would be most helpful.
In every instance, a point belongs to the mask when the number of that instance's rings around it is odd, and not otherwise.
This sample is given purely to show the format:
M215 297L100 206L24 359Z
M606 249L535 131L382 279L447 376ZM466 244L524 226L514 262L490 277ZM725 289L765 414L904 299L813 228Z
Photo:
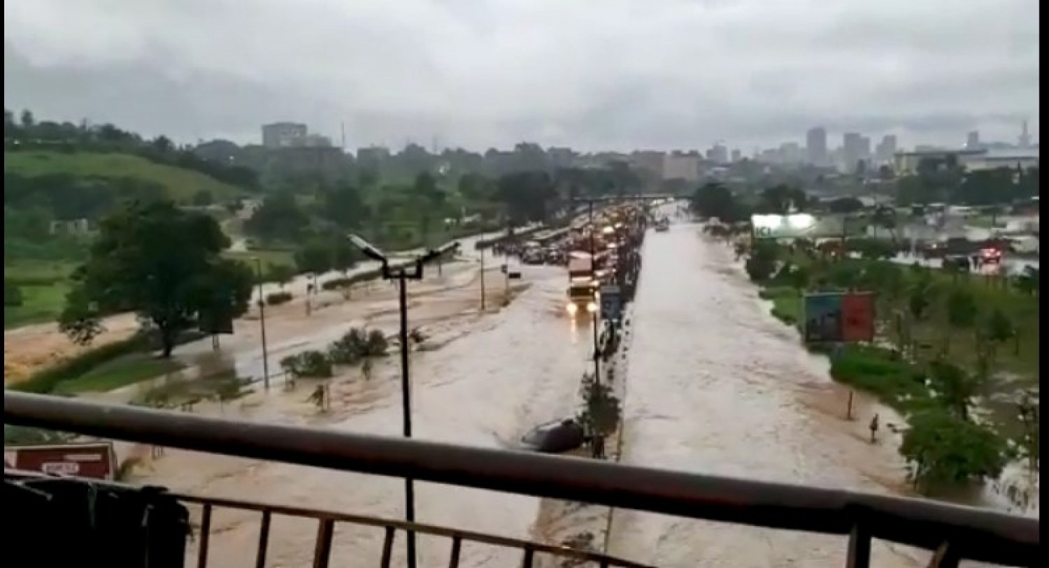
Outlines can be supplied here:
M564 279L561 268L526 267L522 282L528 288L498 313L476 312L476 288L453 288L416 300L410 312L411 325L433 321L427 328L430 350L413 353L411 359L413 429L418 438L506 447L514 445L535 424L575 413L590 336L574 330L563 315ZM501 285L497 278L492 282ZM382 312L388 301L362 303L367 304L367 309ZM395 322L394 312L368 320L369 326L384 330L393 329ZM317 335L326 333L323 326L315 330ZM398 362L397 356L386 357L376 366L370 379L363 378L356 369L331 379L333 409L324 414L305 401L313 388L305 385L309 383L305 379L300 379L303 385L295 392L278 388L269 395L252 395L237 407L228 405L226 413L400 436ZM201 406L197 412L217 410ZM176 451L169 451L152 469L145 480L179 490L393 519L404 515L404 483L400 479ZM416 484L415 499L416 519L422 523L521 539L531 538L539 509L539 500L534 498L427 483ZM245 550L254 550L258 527L257 516L216 512L212 564L253 565L253 554ZM313 521L275 519L269 565L309 565L315 534ZM446 540L421 538L421 566L446 564L449 550ZM338 526L333 565L376 566L381 552L381 529ZM393 554L395 563L401 564L403 536L398 537ZM462 563L510 566L519 558L519 551L465 544Z

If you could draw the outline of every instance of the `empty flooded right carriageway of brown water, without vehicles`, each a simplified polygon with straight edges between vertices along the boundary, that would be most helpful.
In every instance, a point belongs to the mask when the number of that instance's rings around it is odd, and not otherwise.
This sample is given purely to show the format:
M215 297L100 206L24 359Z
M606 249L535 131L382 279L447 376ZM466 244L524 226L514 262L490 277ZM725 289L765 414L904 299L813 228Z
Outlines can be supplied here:
M890 491L892 443L842 419L842 389L795 330L770 315L724 244L698 225L649 233L634 307L624 408L625 463L768 481ZM840 405L840 406L839 406ZM617 509L608 552L659 566L841 566L848 539ZM915 558L912 558L915 556ZM875 566L920 554L875 543Z

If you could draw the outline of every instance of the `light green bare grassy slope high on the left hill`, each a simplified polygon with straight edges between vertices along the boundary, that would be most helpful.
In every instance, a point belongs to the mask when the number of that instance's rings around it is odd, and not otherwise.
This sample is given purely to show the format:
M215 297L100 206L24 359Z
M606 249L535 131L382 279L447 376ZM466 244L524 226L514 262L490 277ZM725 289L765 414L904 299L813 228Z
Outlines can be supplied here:
M216 201L243 192L199 172L164 166L130 154L93 152L60 153L46 151L4 152L4 171L24 176L70 174L80 177L133 178L162 185L179 202L189 202L200 190L208 190Z

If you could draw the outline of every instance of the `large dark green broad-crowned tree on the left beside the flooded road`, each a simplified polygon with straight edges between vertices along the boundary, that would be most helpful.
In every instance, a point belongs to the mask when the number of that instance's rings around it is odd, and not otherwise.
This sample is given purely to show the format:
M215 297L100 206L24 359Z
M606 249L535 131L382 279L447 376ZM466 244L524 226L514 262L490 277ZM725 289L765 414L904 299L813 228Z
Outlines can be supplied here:
M74 275L77 293L101 311L137 313L156 328L168 357L178 334L214 309L216 298L228 302L229 315L248 309L248 268L219 256L229 244L208 215L170 201L131 202L102 221Z

